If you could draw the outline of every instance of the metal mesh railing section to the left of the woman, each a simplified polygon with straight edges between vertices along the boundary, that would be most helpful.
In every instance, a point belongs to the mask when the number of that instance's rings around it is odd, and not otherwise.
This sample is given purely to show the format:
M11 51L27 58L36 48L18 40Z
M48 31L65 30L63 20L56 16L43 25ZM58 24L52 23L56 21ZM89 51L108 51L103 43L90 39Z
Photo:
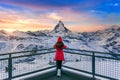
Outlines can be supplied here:
M31 50L0 54L0 80L43 71L52 67L54 49Z

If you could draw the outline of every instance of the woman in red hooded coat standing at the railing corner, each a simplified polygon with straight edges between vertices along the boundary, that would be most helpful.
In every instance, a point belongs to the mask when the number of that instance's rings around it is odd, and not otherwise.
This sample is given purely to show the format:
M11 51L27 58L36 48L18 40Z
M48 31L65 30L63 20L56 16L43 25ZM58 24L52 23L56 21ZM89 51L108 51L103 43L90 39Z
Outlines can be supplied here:
M56 48L56 54L54 60L56 60L56 65L57 65L57 76L61 76L62 61L65 60L63 48L66 48L61 37L58 37L58 41L54 45L54 48Z

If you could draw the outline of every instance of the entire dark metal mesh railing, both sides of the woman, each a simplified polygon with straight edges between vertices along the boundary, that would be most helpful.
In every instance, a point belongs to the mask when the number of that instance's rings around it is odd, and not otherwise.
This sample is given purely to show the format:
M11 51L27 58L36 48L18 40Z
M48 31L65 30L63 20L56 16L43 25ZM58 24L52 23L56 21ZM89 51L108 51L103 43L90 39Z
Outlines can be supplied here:
M120 80L120 54L77 49L65 49L64 52L63 67L93 78ZM0 79L11 80L55 67L54 53L55 49L51 48L0 54Z

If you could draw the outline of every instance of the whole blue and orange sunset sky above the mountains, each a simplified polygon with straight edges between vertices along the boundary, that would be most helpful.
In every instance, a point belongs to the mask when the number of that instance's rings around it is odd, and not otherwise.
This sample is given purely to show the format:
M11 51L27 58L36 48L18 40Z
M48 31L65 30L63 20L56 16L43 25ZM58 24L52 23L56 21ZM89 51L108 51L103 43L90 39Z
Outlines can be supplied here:
M59 20L77 32L120 25L120 0L0 0L1 30L52 30Z

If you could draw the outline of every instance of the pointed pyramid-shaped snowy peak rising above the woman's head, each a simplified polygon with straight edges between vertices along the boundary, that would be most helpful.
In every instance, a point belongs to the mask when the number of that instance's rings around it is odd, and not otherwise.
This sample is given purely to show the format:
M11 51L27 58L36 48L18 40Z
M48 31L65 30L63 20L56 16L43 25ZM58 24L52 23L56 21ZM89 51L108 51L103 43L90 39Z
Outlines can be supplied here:
M67 32L71 32L69 29L67 29L62 21L59 21L59 23L55 26L54 30L52 32L55 33L67 33Z

